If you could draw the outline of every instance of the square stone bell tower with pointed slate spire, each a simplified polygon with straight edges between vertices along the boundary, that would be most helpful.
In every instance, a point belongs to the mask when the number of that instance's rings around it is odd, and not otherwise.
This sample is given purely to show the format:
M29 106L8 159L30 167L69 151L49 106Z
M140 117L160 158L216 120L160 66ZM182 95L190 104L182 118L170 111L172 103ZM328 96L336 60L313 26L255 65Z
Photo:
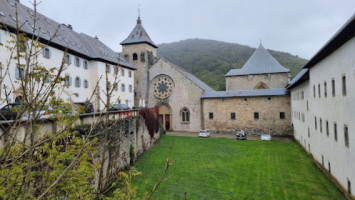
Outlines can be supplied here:
M137 67L134 72L134 106L146 107L148 105L149 67L156 60L158 47L143 28L140 14L136 26L121 42L121 45L122 55Z

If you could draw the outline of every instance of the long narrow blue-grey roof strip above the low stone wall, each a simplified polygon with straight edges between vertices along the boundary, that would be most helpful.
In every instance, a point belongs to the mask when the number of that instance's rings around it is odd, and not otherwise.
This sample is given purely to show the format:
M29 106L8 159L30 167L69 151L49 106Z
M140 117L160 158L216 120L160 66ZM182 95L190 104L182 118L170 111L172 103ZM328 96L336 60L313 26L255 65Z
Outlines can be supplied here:
M283 96L288 95L289 91L286 88L276 89L260 89L260 90L228 90L228 91L213 91L205 92L201 98L233 98L233 97L258 97L258 96Z

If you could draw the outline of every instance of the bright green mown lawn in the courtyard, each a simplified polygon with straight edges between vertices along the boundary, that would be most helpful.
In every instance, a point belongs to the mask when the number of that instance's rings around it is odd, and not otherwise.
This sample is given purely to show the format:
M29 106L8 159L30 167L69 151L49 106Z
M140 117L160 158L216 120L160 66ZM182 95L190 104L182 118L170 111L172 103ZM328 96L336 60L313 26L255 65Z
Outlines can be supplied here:
M153 199L345 199L297 143L173 136L136 164L139 196L157 183L173 140L169 179Z

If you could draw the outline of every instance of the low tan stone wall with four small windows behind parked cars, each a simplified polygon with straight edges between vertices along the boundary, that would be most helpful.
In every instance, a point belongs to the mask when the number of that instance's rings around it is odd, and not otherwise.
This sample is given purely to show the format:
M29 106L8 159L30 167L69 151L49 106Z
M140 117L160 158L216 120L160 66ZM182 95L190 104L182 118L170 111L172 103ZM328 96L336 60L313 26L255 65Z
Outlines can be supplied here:
M292 135L288 95L203 99L202 107L204 128L213 132L244 130L256 135L265 132L274 136ZM259 113L259 119L254 119L255 112ZM280 119L280 112L285 113L285 119ZM209 118L210 113L213 119ZM231 119L231 113L235 113L235 120Z

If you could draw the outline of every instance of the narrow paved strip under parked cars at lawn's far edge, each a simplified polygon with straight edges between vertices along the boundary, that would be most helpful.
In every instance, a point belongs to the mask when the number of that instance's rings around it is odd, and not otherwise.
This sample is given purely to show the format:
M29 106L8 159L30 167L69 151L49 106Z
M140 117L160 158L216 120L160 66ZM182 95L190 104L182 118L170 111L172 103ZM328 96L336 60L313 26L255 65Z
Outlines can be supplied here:
M166 135L171 136L185 136L185 137L198 137L198 132L166 132ZM212 138L232 138L235 139L234 134L222 134L222 133L211 133ZM247 135L248 140L260 140L260 136ZM294 142L293 138L289 137L272 137L274 141L283 141L283 142Z

